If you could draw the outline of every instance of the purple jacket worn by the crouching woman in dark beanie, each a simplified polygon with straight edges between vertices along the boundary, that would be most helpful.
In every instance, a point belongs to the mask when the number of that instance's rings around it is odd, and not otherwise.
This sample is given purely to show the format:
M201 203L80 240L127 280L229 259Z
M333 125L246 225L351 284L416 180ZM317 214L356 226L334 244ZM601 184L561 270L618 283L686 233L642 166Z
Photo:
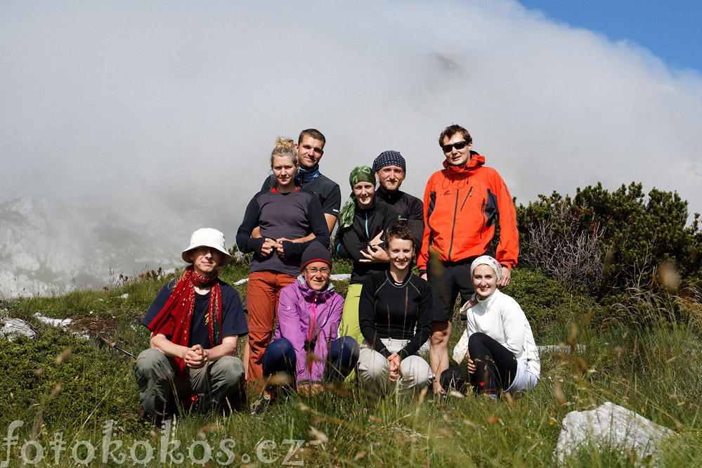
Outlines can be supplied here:
M306 339L310 339L310 324L314 308L314 325L312 327L313 353L318 359L313 360L312 367L307 363L304 349ZM324 291L315 291L308 287L302 276L280 291L278 302L278 325L275 337L287 338L292 343L297 356L297 384L322 383L327 353L342 321L344 298L334 292L334 285Z

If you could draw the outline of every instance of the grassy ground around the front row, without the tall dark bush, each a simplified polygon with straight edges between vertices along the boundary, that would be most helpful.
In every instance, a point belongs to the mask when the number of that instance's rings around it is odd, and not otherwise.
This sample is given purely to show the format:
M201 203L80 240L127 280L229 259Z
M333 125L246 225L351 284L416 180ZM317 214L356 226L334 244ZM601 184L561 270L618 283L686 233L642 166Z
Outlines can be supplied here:
M240 275L224 274L229 282ZM138 353L148 342L147 331L138 323L167 280L148 273L97 292L5 301L11 316L29 320L39 334L33 342L0 341L0 428L23 422L15 430L18 444L11 449L11 466L22 464L22 450L27 460L34 460L37 446L44 450L39 466L74 466L76 460L89 458L89 446L96 456L90 464L97 465L108 433L109 443L123 443L115 453L127 464L147 459L151 448L153 459L146 466L163 465L160 449L168 441L139 422L131 358L41 325L33 316L40 312L74 318L82 330L105 334ZM565 311L590 304L568 300L563 302ZM186 415L176 420L169 440L181 442L176 452L188 465L209 455L209 466L552 466L565 415L611 401L677 434L666 439L655 460L642 460L644 464L702 466L702 347L697 323L666 315L649 327L629 329L616 321L604 326L571 309L568 320L576 320L571 325L562 318L564 310L557 311L558 323L552 320L540 333L539 344L557 340L585 347L578 352L566 345L561 353L542 354L538 386L514 400L430 393L378 397L356 386L330 388L313 398L294 395L273 405L264 417L240 412ZM461 331L455 323L454 342ZM249 392L249 398L255 397ZM58 463L51 450L57 434L67 447ZM3 441L7 436L2 434ZM204 450L207 447L211 453ZM7 454L3 446L0 460ZM122 464L119 460L109 458L106 464ZM637 461L635 453L585 450L568 460L568 466L628 467ZM178 458L167 462L179 464Z

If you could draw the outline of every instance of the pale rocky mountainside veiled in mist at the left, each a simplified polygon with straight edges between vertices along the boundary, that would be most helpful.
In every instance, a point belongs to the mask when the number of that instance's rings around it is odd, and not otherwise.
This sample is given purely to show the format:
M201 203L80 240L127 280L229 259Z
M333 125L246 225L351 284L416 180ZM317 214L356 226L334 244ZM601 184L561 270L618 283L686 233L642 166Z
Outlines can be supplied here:
M44 197L0 202L0 297L98 288L120 273L173 268L177 247L154 237L150 222L117 210Z

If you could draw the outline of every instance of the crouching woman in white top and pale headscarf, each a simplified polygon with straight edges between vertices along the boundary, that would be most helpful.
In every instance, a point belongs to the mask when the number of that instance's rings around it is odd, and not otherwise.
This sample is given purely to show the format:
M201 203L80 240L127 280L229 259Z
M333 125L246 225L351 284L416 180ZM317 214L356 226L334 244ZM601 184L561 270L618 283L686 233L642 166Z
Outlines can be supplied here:
M502 267L491 256L479 256L471 265L475 295L463 306L468 321L453 358L467 364L441 374L441 386L465 393L497 398L502 391L531 390L538 382L541 365L524 311L512 297L497 288Z

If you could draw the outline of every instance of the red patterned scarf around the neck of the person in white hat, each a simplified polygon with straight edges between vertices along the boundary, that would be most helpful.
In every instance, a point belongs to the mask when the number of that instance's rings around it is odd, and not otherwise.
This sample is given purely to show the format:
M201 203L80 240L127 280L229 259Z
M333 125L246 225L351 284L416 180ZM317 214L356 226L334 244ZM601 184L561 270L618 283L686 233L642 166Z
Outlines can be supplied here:
M222 323L222 294L217 281L217 274L210 278L205 278L193 271L193 267L188 267L188 271L183 275L176 285L171 297L166 301L158 315L151 320L148 329L153 334L158 334L159 330L166 325L169 320L174 321L173 336L171 342L181 346L188 346L190 332L190 320L195 311L195 285L207 287L212 285L209 293L209 308L205 322L209 325L209 342L212 346L220 344L219 332ZM181 358L171 358L176 364L178 378L186 378L186 363Z

